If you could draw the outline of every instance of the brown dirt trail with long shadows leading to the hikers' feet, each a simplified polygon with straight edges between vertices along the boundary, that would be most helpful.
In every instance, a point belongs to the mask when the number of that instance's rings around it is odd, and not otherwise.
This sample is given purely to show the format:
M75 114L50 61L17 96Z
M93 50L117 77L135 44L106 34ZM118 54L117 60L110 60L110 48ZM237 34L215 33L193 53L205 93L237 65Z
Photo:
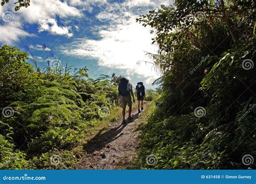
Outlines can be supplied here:
M145 103L144 109L149 105ZM138 114L138 109L134 109L131 114L133 120L126 120L126 124L122 125L120 117L106 132L99 132L86 143L78 169L121 169L130 165L137 156L140 132L136 129L143 113L144 110Z

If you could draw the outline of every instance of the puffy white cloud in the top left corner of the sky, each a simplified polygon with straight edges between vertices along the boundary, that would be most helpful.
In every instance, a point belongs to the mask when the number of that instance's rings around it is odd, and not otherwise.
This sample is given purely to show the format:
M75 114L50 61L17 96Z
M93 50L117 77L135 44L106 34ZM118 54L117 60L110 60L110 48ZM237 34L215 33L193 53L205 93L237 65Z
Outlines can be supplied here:
M14 12L14 3L9 3L0 9L0 13L0 42L3 44L15 44L24 37L35 36L24 30L26 24L38 24L39 32L48 31L51 34L72 37L71 26L59 26L56 16L65 23L83 16L82 10L60 0L33 0L29 8L21 8L17 12Z

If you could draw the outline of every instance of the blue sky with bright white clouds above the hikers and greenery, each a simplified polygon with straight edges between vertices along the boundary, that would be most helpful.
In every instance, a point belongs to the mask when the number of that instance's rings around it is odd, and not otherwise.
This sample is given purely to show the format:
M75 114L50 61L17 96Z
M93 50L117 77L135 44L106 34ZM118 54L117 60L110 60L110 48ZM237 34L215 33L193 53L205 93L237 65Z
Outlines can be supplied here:
M156 53L149 28L136 23L139 15L173 1L157 0L31 0L29 8L14 11L14 3L0 8L0 45L28 46L46 65L43 44L73 68L87 67L92 78L100 74L124 75L133 86L147 88L159 77L146 52Z

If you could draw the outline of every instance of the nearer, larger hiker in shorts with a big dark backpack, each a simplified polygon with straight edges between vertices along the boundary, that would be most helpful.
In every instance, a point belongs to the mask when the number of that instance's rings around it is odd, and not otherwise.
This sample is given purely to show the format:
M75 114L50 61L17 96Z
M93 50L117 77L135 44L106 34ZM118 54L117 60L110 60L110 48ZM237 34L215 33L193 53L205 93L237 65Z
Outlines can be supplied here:
M132 92L132 85L130 84L129 80L126 78L122 78L119 80L119 85L118 85L118 95L117 95L117 103L119 100L120 96L120 101L121 105L123 108L123 122L122 124L125 124L125 109L126 109L126 104L128 104L129 111L128 111L128 120L131 120L131 112L132 112L132 98L133 98L133 103L135 103L134 95Z

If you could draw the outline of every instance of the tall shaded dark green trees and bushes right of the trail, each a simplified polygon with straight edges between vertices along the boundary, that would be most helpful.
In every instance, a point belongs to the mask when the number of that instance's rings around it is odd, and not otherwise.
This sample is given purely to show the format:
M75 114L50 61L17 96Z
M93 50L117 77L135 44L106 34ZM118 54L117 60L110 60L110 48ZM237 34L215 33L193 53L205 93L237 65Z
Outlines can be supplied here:
M176 1L137 19L156 33L149 55L163 93L141 128L136 168L255 168L242 164L256 153L254 6Z

